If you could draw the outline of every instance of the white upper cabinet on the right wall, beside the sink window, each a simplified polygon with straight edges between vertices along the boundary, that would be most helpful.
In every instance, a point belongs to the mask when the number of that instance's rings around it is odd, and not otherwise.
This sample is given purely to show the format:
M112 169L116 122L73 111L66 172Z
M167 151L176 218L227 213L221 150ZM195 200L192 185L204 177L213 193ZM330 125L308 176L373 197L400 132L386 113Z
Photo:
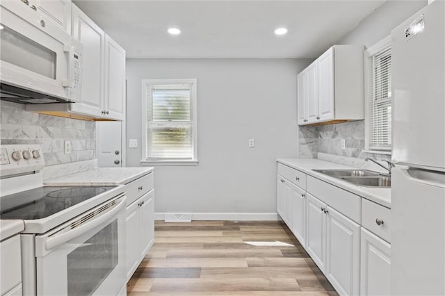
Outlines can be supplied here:
M334 45L298 74L299 125L364 119L363 52Z

